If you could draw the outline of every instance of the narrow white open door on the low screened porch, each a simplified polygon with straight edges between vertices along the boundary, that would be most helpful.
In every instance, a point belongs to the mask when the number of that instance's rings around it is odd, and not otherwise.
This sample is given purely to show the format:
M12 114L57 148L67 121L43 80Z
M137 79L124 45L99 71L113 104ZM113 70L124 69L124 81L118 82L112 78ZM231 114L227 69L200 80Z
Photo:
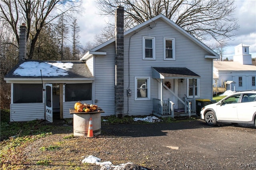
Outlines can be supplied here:
M52 123L52 84L45 84L45 114L46 121Z

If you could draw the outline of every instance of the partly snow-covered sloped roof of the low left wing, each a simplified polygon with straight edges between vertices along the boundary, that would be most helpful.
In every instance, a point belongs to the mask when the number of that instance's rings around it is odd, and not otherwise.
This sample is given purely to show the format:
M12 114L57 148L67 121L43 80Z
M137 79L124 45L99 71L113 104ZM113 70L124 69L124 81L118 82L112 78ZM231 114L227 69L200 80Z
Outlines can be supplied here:
M42 74L42 77L41 77ZM84 61L20 61L4 80L17 79L92 80L94 77Z

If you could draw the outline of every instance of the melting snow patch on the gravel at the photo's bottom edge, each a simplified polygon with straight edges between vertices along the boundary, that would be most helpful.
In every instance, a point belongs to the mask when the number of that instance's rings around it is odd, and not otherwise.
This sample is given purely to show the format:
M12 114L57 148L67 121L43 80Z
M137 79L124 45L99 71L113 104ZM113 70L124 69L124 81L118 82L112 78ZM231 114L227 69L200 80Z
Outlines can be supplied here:
M128 162L126 164L120 164L120 165L113 165L112 162L110 161L106 161L106 162L100 162L101 159L97 158L95 156L87 156L86 158L84 158L84 160L82 160L82 163L90 163L90 164L96 164L99 165L101 168L100 170L124 170L124 168L126 167L127 164L133 164L131 162Z

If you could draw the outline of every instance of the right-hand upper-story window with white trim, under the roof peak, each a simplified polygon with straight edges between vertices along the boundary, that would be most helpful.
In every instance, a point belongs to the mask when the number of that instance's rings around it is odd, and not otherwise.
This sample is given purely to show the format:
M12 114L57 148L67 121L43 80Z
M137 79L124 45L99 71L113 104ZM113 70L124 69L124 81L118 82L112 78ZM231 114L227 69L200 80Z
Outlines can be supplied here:
M164 38L164 59L175 60L174 38Z

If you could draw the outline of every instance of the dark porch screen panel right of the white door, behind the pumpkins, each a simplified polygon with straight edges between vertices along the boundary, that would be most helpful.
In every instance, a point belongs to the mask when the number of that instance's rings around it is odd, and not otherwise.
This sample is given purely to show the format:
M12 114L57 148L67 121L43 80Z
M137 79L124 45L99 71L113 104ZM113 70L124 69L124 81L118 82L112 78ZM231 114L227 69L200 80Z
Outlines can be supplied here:
M65 101L92 100L92 83L66 84Z

